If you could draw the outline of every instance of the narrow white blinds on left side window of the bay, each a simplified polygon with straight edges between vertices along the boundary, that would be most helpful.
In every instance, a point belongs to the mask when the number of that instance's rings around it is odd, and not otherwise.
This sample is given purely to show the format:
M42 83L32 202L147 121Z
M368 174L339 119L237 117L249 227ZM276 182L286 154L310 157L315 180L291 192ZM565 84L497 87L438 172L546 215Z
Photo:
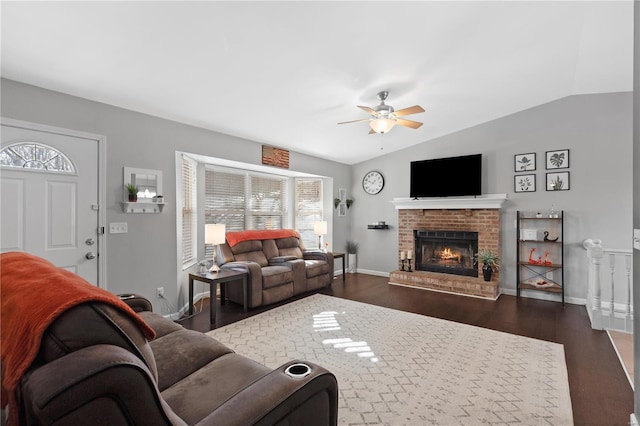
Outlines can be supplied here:
M196 260L196 162L182 157L182 265Z

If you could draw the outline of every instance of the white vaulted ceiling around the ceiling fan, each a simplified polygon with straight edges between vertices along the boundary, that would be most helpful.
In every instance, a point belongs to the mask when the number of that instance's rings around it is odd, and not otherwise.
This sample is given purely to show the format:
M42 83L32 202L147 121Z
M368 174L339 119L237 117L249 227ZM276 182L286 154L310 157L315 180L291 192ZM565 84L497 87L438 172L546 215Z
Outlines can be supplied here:
M7 2L2 76L354 164L569 95L633 90L633 1ZM356 105L389 90L397 127ZM381 150L381 147L384 148Z

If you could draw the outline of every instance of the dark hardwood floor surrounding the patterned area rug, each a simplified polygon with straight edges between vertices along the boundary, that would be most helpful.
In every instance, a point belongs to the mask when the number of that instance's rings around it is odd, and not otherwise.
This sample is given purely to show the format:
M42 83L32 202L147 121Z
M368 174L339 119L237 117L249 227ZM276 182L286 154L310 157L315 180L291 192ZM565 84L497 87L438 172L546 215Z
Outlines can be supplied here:
M497 301L389 285L385 277L347 274L319 293L406 312L428 315L521 336L561 343L569 373L576 425L627 425L633 412L633 391L604 331L592 330L584 306L502 295ZM302 297L306 297L305 294ZM291 300L287 301L290 302ZM216 327L240 321L280 304L248 313L234 303L217 301ZM179 321L209 331L208 303L202 312Z

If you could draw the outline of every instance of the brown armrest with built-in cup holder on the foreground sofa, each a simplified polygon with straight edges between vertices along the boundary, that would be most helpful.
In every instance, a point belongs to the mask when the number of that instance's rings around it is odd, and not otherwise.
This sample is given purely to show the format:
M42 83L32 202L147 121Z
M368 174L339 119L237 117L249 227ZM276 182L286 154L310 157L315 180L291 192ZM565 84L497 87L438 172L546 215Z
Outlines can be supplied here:
M285 370L306 364L305 377ZM336 425L338 382L328 370L306 361L290 361L240 390L198 425Z

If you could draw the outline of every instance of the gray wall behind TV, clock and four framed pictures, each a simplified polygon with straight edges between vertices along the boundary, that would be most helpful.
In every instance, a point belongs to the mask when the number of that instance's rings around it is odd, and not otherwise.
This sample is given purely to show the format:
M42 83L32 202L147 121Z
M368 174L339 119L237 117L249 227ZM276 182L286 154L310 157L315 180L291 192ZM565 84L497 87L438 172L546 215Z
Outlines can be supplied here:
M394 137L407 131L411 130L394 129L384 136L385 145L393 144ZM547 192L545 151L557 149L570 150L571 189ZM529 152L537 154L537 191L516 194L513 156ZM563 98L355 165L351 237L360 243L359 270L385 274L397 269L398 216L390 201L409 196L410 162L476 153L483 155L482 192L508 195L501 215L503 292L515 294L516 211L547 211L554 205L565 211L565 295L584 299L587 261L582 241L600 238L608 248L630 248L633 168L629 92ZM378 195L362 190L362 177L369 170L379 170L385 176L385 187ZM389 223L391 229L367 229L368 223L379 220Z

